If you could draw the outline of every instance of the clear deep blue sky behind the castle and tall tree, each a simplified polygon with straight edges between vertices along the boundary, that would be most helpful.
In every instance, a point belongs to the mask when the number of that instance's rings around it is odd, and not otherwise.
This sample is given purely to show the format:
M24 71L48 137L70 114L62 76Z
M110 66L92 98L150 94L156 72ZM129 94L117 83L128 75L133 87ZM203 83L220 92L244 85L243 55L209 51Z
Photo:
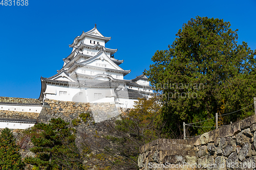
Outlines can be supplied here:
M0 0L2 1L2 0ZM0 5L0 96L38 98L40 77L51 77L72 51L74 38L91 30L112 37L106 47L132 69L133 79L148 69L157 50L167 49L190 18L221 18L239 29L238 43L256 49L256 1L35 1Z

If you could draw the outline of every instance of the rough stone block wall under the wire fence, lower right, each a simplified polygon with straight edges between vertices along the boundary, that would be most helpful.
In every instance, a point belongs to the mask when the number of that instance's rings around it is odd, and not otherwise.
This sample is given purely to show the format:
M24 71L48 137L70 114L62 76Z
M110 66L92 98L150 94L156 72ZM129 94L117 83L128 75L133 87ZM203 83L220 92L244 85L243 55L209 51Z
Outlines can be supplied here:
M155 167L161 163L197 164L195 168L176 169L255 169L255 149L256 115L253 115L187 140L158 139L147 143L140 148L138 165L140 169L163 169L150 168L148 163Z

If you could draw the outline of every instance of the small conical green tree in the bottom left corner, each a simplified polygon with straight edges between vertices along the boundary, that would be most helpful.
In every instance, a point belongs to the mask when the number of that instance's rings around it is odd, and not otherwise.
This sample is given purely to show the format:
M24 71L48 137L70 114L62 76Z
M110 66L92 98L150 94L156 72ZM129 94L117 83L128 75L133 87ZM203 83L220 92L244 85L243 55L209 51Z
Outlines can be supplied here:
M0 136L0 169L24 169L24 162L19 153L19 147L10 129L5 128Z

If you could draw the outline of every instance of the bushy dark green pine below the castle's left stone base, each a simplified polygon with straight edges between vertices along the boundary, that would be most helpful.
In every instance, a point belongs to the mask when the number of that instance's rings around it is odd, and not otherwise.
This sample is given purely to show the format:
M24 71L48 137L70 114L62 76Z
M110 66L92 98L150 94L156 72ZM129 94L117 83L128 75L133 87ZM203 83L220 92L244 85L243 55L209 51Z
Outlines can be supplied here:
M76 148L75 130L61 118L51 119L49 124L40 123L31 130L31 149L36 156L25 158L25 162L39 169L83 169L76 162L79 155L72 152Z

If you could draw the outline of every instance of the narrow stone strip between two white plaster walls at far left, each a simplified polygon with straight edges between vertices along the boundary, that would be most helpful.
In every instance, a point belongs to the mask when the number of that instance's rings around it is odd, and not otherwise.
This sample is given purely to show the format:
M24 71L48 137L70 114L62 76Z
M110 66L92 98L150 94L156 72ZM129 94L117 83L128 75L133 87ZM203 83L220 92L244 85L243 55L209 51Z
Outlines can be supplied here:
M36 119L39 113L0 110L0 118Z

